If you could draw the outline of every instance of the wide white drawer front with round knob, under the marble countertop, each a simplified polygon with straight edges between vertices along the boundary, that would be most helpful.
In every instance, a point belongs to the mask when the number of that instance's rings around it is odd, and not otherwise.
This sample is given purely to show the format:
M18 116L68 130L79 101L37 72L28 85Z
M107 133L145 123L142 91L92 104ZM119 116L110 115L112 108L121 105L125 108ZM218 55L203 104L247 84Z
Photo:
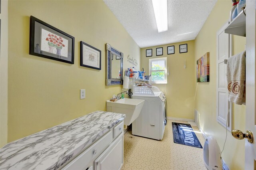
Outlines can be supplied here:
M112 142L112 130L100 138L97 142L92 144L84 152L74 158L62 170L85 170L88 168L90 161L94 160L106 149Z

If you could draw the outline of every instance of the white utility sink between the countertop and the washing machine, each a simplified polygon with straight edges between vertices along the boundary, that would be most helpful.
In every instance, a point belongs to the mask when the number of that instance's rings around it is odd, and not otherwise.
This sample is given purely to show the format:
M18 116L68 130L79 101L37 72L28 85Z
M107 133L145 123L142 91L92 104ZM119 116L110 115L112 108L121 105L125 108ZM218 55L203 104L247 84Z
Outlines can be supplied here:
M125 114L124 125L130 125L140 115L144 100L140 99L119 99L118 101L107 100L107 111Z

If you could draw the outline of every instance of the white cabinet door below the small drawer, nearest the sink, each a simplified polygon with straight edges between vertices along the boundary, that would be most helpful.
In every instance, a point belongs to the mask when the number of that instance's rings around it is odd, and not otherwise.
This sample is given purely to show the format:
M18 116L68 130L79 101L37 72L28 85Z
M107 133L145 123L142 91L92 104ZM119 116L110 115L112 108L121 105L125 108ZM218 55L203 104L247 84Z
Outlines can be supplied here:
M120 170L124 163L124 133L94 161L94 170Z

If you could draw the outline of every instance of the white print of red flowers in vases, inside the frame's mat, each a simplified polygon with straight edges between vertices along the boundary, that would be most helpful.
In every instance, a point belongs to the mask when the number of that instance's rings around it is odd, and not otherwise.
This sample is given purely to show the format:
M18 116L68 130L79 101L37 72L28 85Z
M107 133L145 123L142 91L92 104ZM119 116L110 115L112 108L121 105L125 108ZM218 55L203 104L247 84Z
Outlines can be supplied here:
M68 57L68 40L52 32L41 30L41 50Z

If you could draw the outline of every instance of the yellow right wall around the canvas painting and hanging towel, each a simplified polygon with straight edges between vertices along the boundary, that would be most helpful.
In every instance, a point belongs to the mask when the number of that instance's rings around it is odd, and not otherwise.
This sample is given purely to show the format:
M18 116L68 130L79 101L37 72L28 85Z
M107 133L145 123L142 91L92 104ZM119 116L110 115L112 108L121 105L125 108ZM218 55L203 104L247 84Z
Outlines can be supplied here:
M195 60L210 52L210 82L195 83L195 109L200 114L200 127L207 136L212 135L222 150L226 129L216 121L216 32L228 21L230 0L218 0L204 26L195 39ZM245 38L234 36L234 54L244 50ZM194 73L196 76L196 73ZM245 128L245 106L234 105L234 129ZM244 169L244 140L236 140L228 131L222 158L230 169Z

